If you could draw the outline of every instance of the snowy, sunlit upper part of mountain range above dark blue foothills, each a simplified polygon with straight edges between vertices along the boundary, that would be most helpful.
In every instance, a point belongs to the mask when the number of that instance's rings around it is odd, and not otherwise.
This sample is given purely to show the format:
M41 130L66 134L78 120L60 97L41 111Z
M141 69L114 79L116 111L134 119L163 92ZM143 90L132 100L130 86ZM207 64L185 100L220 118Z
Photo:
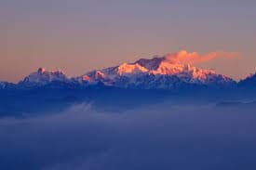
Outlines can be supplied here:
M48 86L52 88L83 88L91 85L105 85L131 89L177 90L185 87L229 88L234 86L254 87L256 74L236 82L232 78L212 70L203 70L190 64L168 59L168 56L153 59L139 59L115 67L87 72L69 78L63 72L51 72L39 68L18 84L0 83L0 89L32 89Z

